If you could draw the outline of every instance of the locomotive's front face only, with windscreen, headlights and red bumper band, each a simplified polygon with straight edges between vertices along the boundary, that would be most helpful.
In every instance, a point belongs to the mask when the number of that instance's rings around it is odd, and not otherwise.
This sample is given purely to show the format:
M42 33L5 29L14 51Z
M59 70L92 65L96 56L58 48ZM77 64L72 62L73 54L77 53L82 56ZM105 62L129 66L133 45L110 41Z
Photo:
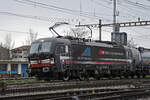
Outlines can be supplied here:
M54 66L53 43L49 40L40 39L31 44L28 55L30 76L47 74Z

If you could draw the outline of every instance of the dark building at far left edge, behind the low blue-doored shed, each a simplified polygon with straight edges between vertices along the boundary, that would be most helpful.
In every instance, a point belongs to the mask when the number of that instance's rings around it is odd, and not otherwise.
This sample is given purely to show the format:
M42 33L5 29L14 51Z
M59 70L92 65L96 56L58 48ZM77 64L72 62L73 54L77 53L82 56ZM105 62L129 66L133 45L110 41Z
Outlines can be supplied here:
M8 60L9 59L9 50L0 46L0 60Z

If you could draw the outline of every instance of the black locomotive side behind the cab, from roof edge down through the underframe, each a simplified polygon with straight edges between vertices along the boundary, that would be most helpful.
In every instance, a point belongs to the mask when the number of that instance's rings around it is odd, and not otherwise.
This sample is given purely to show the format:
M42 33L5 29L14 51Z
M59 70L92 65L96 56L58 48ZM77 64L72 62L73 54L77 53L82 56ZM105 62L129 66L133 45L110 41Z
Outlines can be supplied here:
M129 75L131 59L122 46L72 44L72 70L86 70L89 76ZM84 72L85 73L85 72ZM78 73L76 74L79 75Z

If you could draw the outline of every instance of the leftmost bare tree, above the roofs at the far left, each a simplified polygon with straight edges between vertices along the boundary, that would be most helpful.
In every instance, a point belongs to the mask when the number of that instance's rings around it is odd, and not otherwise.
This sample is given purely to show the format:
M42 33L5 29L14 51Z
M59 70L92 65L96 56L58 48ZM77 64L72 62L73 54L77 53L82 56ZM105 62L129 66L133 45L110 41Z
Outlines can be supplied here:
M14 48L14 45L15 45L15 42L12 41L11 34L7 34L6 37L5 37L5 40L4 40L3 47L11 50L11 49Z

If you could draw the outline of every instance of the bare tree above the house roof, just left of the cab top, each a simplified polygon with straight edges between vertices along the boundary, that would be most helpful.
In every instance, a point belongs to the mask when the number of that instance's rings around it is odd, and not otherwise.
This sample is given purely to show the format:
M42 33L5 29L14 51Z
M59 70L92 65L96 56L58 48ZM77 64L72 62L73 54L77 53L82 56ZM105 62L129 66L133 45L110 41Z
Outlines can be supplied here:
M32 29L29 29L29 36L26 39L26 45L31 45L33 41L37 39L38 32L34 32Z

